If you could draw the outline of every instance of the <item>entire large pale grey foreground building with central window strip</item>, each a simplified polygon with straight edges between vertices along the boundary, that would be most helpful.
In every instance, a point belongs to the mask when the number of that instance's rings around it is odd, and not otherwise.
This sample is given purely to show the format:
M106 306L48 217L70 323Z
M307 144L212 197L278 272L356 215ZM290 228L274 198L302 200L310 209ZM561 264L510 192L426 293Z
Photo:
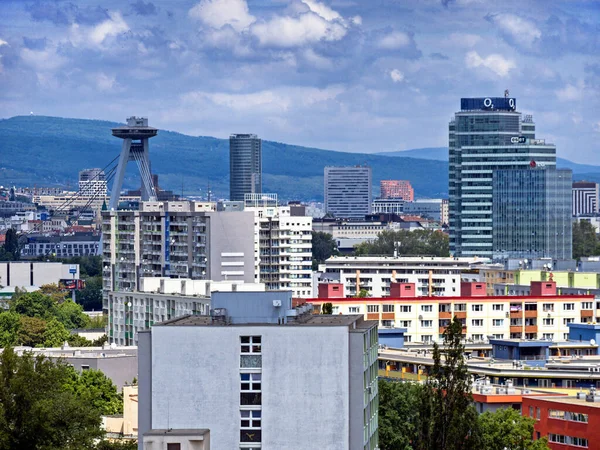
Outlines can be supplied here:
M140 333L140 450L377 448L375 322L292 308L290 292L218 292L212 309Z

